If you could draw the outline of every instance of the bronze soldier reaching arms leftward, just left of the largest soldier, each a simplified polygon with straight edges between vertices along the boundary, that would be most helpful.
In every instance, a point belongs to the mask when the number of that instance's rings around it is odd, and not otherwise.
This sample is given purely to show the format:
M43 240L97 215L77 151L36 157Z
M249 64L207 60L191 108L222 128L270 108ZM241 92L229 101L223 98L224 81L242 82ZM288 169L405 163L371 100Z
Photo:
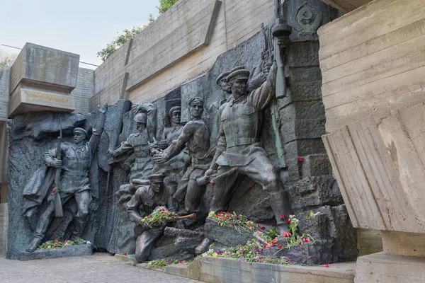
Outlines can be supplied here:
M189 111L191 121L183 127L179 138L173 141L162 154L157 154L154 158L155 162L164 163L179 154L187 144L192 163L181 178L173 198L179 202L185 200L186 212L193 212L198 209L200 198L205 190L205 186L198 186L196 179L203 176L209 167L210 159L207 155L210 148L210 131L202 119L203 100L201 98L189 100Z

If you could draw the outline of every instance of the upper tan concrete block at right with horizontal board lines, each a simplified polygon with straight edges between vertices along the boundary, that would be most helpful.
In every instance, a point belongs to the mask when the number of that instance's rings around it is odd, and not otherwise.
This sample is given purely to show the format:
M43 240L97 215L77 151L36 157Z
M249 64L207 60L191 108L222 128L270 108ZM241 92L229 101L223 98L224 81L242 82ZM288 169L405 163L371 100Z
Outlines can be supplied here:
M319 29L327 132L425 100L424 8L373 1Z

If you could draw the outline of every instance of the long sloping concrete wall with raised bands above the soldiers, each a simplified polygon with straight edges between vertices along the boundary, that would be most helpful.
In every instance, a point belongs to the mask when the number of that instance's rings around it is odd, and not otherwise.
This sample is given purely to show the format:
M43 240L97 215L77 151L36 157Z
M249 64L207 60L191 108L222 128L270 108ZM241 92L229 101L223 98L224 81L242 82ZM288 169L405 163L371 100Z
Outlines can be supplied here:
M152 100L202 74L218 55L259 32L273 9L273 0L180 0L96 69L91 109L120 96Z

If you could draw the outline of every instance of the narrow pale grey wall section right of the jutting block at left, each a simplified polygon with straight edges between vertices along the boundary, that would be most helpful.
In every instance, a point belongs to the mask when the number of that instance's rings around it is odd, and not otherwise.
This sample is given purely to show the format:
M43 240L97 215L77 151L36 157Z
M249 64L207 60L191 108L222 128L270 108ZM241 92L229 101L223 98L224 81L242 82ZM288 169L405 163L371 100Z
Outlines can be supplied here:
M90 112L90 100L94 96L94 70L78 69L77 86L71 91L75 111L81 114Z

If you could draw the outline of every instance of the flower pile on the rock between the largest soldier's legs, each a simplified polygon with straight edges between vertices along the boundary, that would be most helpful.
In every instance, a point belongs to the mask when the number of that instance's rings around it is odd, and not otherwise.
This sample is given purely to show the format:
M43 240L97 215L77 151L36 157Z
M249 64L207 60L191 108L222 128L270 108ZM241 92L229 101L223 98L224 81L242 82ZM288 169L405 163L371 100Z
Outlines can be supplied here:
M256 231L259 228L259 225L255 225L253 221L247 219L242 214L237 214L236 212L230 213L229 211L226 212L210 212L208 216L211 219L215 219L217 223L220 226L229 226L237 230L239 233L242 232L251 232Z

